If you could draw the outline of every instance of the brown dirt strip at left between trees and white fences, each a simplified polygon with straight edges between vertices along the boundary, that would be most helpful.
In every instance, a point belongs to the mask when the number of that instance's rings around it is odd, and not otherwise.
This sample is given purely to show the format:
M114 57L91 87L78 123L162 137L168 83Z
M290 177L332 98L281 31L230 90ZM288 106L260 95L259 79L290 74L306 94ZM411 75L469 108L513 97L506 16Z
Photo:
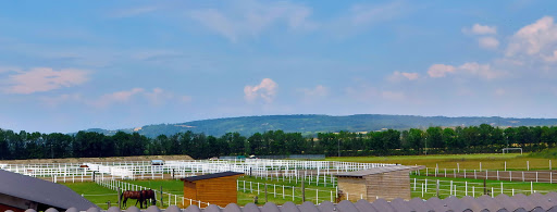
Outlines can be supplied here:
M150 160L194 160L189 155L141 155L141 157L111 157L111 158L71 158L71 159L29 159L3 160L3 164L32 164L32 163L81 163L81 162L119 162L119 161L150 161Z

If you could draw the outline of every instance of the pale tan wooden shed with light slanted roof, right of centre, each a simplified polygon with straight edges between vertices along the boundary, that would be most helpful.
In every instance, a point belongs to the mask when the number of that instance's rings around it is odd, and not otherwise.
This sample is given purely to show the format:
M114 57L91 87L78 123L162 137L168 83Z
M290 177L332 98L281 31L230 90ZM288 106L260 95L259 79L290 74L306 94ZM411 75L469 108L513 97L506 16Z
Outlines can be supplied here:
M396 198L410 200L410 172L421 166L393 165L339 173L338 190L342 200L366 199L375 201L377 198L387 201Z

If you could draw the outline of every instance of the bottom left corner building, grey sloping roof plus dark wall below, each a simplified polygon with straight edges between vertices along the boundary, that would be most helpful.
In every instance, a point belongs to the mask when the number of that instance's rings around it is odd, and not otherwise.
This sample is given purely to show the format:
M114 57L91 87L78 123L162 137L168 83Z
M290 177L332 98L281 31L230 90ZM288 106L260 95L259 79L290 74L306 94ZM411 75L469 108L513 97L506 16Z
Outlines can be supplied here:
M86 211L98 207L63 185L0 170L0 211L45 211L49 208Z

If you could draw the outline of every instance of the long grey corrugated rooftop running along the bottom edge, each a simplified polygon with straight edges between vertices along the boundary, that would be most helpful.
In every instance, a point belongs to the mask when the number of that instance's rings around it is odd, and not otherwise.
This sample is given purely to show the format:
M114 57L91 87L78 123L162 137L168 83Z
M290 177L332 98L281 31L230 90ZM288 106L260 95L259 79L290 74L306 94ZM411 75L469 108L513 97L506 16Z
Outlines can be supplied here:
M69 210L69 212L76 212ZM120 212L116 207L110 208L109 212ZM125 212L138 212L135 207L125 210ZM199 209L197 205L190 205L187 209L178 209L177 207L169 207L161 210L157 207L149 207L147 212L557 212L557 192L549 192L547 195L533 194L530 196L516 195L508 197L499 195L495 198L490 196L482 196L479 198L465 197L455 198L449 197L446 199L430 198L422 200L420 198L405 201L403 199L395 199L387 202L383 199L368 202L359 200L350 202L347 200L334 204L329 201L321 202L315 205L312 202L305 202L302 204L294 204L286 202L283 205L274 203L265 203L263 207L257 207L253 203L248 203L245 207L238 207L231 203L226 208L219 208L215 204L209 205L206 209ZM30 212L30 211L29 211ZM51 212L51 211L49 211ZM87 212L99 212L97 208L89 209Z

